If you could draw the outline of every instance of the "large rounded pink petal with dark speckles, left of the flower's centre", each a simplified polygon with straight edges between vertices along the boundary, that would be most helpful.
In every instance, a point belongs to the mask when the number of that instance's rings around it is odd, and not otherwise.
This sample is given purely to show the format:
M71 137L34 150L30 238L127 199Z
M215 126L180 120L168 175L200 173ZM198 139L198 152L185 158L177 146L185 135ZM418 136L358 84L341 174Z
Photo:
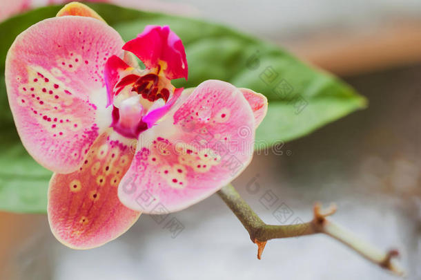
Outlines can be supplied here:
M10 108L23 145L44 167L75 171L111 123L104 65L122 45L90 17L46 19L15 39L5 71Z

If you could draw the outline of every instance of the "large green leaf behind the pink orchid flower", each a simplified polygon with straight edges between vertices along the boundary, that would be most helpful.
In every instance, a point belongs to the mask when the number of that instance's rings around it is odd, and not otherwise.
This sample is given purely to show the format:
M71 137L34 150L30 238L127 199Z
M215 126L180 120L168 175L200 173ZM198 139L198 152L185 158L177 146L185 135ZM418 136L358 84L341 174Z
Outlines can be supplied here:
M235 30L196 19L141 12L104 3L90 3L125 39L148 24L169 25L182 38L189 66L188 81L197 86L218 79L251 88L268 97L266 119L257 129L264 145L293 140L324 124L361 109L366 100L337 78L300 62L285 50ZM55 17L60 6L32 10L0 24L0 72L12 41L32 24ZM271 71L270 74L269 72ZM4 75L0 75L0 209L45 212L50 171L32 160L20 144L8 107ZM262 147L262 145L260 145Z

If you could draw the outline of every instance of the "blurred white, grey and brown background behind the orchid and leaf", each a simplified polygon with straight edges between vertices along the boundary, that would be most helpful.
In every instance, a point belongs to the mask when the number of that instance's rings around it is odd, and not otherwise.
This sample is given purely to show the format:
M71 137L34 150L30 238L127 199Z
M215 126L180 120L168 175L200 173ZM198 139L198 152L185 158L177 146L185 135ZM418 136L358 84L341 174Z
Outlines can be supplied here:
M161 0L144 7L273 41L366 96L368 109L286 143L282 155L255 155L233 184L266 223L308 221L314 201L334 201L335 221L379 248L398 248L407 279L421 279L421 1ZM0 279L395 279L319 235L269 241L259 261L217 195L171 217L182 230L145 215L117 241L75 251L55 240L46 216L0 212Z

